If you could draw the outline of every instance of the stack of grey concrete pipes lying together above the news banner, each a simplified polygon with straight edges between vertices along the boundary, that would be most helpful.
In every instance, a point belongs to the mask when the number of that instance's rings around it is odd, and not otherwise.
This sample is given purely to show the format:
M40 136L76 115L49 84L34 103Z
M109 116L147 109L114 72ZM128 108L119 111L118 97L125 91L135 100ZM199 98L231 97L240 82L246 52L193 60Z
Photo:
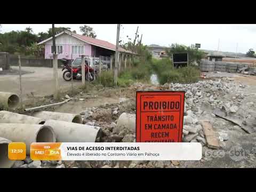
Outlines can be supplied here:
M100 137L100 127L79 124L82 123L79 115L42 111L35 116L0 111L0 137L5 138L3 143L0 140L0 154L5 153L9 141L25 142L29 154L33 142L95 142ZM11 165L0 158L0 167Z

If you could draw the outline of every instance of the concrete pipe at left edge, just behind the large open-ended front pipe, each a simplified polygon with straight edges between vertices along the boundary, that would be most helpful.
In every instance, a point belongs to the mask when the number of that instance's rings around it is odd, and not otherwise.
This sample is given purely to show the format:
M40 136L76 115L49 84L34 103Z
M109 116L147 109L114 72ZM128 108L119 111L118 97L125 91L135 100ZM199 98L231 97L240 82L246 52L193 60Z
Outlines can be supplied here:
M21 124L44 124L45 120L28 115L0 111L0 123L21 123Z

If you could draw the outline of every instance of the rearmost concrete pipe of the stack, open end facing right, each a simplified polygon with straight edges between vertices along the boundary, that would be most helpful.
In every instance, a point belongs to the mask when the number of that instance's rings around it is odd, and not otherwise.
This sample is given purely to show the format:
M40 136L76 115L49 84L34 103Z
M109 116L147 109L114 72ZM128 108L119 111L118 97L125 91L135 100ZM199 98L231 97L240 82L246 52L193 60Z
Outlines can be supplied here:
M69 113L58 113L52 111L37 111L33 115L34 117L43 118L43 119L53 119L58 121L72 122L82 124L82 116L69 114Z

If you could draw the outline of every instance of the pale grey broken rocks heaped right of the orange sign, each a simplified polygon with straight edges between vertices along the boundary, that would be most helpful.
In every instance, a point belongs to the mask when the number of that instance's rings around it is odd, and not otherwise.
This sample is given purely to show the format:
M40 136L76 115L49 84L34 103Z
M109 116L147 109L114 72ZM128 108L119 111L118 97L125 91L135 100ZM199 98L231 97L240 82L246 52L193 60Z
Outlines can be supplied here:
M171 83L165 84L171 91L186 91L185 98L188 109L200 111L202 103L210 103L212 107L222 108L227 111L236 112L241 101L244 99L243 89L247 86L237 85L233 81L199 81L193 84ZM227 94L234 94L232 100L225 98Z

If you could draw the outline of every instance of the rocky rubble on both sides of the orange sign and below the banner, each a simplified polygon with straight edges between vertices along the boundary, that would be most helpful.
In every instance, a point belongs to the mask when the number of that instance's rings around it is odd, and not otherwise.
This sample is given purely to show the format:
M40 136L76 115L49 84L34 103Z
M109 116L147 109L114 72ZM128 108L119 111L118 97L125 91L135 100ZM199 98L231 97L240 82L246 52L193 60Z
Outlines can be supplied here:
M135 83L129 89L154 91L170 90L185 91L185 110L183 117L183 142L199 142L204 148L207 146L207 133L201 124L203 119L211 120L213 126L216 119L213 110L219 108L229 114L238 114L246 118L242 102L246 98L244 89L247 86L236 84L231 78L222 78L218 81L206 80L193 84L169 83L162 86L152 86ZM254 103L246 104L253 108ZM102 135L97 142L135 142L135 98L120 98L119 103L103 103L99 107L85 108L81 111L83 124L101 127ZM242 111L242 112L240 112ZM124 123L122 123L123 121ZM127 121L127 122L126 122ZM131 122L131 123L129 123ZM134 126L132 126L134 124ZM219 141L229 140L225 130L219 132ZM29 157L25 161L15 162L13 167L179 167L178 161L31 161Z

